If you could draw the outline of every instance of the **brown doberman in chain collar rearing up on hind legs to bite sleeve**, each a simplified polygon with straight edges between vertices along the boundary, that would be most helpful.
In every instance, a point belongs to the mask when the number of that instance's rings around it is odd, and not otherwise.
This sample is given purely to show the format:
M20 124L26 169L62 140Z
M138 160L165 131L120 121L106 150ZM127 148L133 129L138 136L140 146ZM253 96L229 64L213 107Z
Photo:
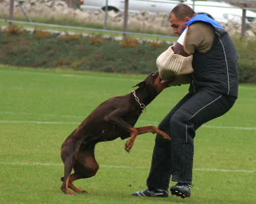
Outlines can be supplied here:
M137 84L139 88L130 94L110 98L100 104L61 146L61 159L65 174L61 190L66 194L70 191L86 193L72 183L78 179L94 176L99 168L94 157L94 147L98 142L111 141L118 137L130 139L125 143L125 150L130 151L137 135L157 133L163 139L170 137L155 126L134 127L142 110L168 86L174 79L161 81L158 72L151 73ZM134 86L135 87L135 86ZM72 169L74 173L71 174Z

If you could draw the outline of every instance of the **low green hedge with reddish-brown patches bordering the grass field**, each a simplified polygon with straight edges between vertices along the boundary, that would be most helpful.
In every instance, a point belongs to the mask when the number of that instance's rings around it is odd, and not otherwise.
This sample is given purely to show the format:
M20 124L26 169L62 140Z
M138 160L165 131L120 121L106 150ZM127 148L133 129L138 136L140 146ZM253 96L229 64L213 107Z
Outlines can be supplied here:
M255 83L256 41L235 38L240 82ZM100 36L28 32L17 27L0 32L0 63L35 68L60 67L118 73L156 71L157 57L167 43L123 41Z

